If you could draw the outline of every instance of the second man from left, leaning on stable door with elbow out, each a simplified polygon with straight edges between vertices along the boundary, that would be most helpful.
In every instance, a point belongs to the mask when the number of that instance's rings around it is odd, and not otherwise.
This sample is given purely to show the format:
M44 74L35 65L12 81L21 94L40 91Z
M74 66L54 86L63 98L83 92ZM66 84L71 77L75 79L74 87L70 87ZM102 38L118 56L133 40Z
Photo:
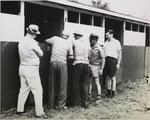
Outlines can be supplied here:
M66 108L67 97L67 56L73 57L72 44L68 40L69 33L62 32L62 37L54 36L46 40L52 45L49 70L49 108L58 110Z

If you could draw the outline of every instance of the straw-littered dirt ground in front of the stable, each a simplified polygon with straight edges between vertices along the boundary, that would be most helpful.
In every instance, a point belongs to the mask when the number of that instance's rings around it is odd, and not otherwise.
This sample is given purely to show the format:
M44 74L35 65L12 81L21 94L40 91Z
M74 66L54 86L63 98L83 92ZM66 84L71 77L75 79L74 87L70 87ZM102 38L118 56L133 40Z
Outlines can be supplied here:
M150 111L144 110L148 92L150 86L145 80L126 82L118 85L115 98L102 98L91 103L88 109L76 106L57 111L45 107L45 112L48 119L54 120L150 120ZM28 108L21 116L16 115L15 111L16 108L3 111L0 119L37 119L34 117L34 107Z

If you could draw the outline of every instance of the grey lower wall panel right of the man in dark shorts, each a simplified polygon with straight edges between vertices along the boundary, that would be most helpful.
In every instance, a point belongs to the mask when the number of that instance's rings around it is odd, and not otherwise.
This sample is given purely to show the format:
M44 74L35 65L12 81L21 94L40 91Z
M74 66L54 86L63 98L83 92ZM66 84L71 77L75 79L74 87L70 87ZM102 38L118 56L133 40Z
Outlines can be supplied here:
M123 81L144 78L145 47L124 46L122 54Z

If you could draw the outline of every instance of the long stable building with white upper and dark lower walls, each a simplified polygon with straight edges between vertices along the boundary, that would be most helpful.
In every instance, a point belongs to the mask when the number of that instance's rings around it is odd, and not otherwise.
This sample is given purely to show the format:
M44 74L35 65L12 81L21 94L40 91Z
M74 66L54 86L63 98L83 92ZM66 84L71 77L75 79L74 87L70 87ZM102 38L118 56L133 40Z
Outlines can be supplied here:
M140 80L150 75L150 21L109 10L102 10L75 2L1 1L0 2L1 79L0 109L15 107L20 88L18 76L18 42L23 39L29 24L37 24L38 36L44 51L40 75L47 102L48 64L51 47L43 43L46 38L60 35L62 30L81 30L87 37L91 32L99 34L100 45L105 41L106 29L114 30L114 37L122 45L122 63L117 82ZM71 64L69 63L71 81Z

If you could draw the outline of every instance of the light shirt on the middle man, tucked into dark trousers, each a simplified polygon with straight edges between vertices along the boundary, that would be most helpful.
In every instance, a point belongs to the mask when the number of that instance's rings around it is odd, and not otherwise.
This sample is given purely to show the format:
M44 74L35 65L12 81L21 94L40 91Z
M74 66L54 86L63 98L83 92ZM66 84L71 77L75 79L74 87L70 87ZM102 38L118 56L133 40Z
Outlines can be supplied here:
M88 51L90 49L89 43L82 40L82 38L73 41L75 61L73 65L78 63L89 64Z

